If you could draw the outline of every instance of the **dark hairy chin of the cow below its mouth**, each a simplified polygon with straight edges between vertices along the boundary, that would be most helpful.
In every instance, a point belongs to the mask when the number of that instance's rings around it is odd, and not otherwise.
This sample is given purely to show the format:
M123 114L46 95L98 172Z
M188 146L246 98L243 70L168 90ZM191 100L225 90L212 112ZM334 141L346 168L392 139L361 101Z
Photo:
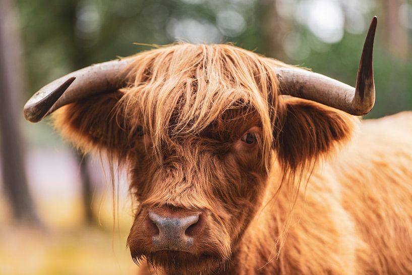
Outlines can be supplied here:
M210 274L224 269L226 261L217 255L160 250L141 255L132 255L136 263L146 259L154 269L161 269L168 274Z

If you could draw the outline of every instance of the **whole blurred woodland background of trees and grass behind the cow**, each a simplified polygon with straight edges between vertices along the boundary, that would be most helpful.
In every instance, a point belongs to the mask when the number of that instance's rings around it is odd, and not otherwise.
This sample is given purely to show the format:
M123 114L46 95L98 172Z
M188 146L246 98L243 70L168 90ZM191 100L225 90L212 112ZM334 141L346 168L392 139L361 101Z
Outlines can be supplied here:
M24 121L24 102L43 85L183 40L233 42L354 86L373 15L377 97L367 118L412 109L410 1L0 0L0 275L135 269L125 177L113 210L100 160L63 143L47 120Z

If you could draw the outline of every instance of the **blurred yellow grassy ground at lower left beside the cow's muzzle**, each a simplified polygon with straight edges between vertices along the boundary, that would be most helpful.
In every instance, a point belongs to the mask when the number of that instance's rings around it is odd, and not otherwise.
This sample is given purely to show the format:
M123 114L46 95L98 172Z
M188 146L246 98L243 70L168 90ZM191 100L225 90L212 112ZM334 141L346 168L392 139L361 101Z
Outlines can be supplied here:
M63 200L64 201L64 200ZM113 231L112 203L102 202L101 225L82 223L80 202L67 209L62 200L38 202L44 229L17 225L0 198L0 275L113 275L136 273L126 248L132 217L120 202L119 223ZM101 200L93 205L96 214ZM128 208L128 209L127 209ZM47 209L47 211L45 211ZM117 227L117 224L119 227Z

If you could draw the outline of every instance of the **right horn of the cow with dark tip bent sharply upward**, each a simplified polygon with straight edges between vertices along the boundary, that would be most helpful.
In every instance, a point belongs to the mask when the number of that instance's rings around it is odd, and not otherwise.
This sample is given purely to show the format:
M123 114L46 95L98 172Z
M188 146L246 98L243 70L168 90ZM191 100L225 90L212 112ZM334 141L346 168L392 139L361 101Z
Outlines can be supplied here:
M372 54L376 24L374 16L365 39L356 88L304 69L276 68L280 93L313 100L355 116L368 114L375 104Z

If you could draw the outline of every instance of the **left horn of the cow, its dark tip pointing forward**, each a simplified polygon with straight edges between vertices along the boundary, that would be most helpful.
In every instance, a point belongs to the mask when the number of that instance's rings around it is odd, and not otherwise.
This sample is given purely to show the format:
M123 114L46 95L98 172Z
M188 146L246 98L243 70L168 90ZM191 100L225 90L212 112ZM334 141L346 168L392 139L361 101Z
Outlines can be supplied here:
M24 117L28 121L39 122L66 104L123 87L127 78L122 72L134 60L125 58L94 64L54 80L27 101Z

